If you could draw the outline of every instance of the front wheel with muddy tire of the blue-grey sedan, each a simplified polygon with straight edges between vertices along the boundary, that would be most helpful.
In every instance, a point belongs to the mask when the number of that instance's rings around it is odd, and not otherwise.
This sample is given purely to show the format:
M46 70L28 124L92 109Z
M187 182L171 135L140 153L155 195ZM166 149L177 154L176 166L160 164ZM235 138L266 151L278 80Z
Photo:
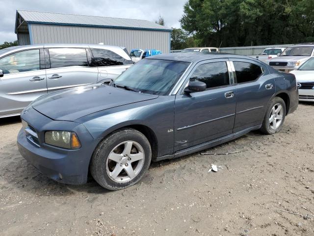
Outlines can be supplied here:
M147 138L135 129L118 130L95 149L91 174L104 188L119 190L137 183L152 159Z

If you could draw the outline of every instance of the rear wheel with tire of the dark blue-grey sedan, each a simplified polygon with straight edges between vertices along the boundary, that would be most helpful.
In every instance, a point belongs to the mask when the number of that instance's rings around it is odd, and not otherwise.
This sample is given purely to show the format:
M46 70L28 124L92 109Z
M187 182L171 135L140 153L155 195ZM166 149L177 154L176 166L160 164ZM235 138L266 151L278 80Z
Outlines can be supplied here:
M271 99L265 117L263 119L261 131L264 134L274 134L281 130L286 118L286 103L280 97Z

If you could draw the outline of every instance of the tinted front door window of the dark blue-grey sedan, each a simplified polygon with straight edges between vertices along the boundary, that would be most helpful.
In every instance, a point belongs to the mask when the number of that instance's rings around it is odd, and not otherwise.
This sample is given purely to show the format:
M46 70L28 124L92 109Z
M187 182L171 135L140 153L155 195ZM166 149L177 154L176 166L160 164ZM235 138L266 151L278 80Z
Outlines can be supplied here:
M225 61L199 65L190 77L190 81L201 81L207 89L230 85L229 71Z

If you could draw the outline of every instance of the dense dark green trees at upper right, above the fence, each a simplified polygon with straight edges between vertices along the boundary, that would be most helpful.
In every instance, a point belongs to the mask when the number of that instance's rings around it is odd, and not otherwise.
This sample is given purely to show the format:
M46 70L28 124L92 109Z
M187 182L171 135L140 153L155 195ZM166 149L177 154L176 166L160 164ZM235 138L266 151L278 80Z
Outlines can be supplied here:
M314 0L188 0L180 22L203 46L314 41Z

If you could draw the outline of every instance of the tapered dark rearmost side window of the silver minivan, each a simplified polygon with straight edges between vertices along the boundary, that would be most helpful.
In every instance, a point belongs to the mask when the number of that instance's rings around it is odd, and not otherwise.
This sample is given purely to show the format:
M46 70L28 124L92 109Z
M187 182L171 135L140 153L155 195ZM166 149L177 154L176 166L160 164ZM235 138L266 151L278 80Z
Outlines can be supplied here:
M129 65L132 60L127 60L120 55L101 48L92 48L93 59L90 66L110 66L110 65Z

